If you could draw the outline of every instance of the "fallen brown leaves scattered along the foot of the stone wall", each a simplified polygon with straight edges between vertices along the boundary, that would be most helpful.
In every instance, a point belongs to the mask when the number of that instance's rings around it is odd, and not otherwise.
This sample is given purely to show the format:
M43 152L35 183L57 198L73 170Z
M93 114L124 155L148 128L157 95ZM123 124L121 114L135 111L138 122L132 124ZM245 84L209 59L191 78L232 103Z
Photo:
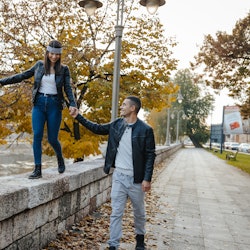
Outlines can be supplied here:
M154 179L166 166L166 161L158 164L154 168ZM145 196L146 209L146 225L161 225L166 227L167 221L157 217L161 213L160 206L157 204L159 196L151 189ZM107 201L105 204L97 208L93 213L83 217L78 223L72 225L68 230L64 230L57 235L57 239L50 242L43 250L100 250L101 245L106 244L109 239L109 219L111 215L111 203ZM135 244L134 218L132 204L128 200L123 215L121 243ZM151 238L150 249L157 249L157 236L152 232L146 234L147 238ZM108 249L108 248L106 248ZM122 249L121 250L127 250Z

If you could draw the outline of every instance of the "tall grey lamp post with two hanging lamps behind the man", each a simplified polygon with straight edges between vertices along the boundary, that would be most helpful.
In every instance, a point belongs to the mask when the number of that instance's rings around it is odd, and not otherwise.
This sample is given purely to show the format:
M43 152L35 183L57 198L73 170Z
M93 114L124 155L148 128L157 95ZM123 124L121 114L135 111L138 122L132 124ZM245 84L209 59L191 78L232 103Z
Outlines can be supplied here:
M111 121L115 120L118 116L120 67L121 67L121 43L122 43L122 32L124 28L123 26L124 1L125 0L117 1ZM149 14L155 14L158 7L165 4L165 0L140 0L140 4L147 8ZM85 9L87 15L93 15L95 13L95 10L97 8L102 7L103 4L99 0L82 0L79 2L79 5Z

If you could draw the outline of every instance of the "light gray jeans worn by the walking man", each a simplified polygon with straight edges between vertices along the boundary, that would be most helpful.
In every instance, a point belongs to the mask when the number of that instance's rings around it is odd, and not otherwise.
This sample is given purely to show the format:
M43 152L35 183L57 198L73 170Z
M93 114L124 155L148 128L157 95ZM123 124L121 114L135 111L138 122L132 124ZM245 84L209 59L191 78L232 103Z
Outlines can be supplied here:
M145 234L144 196L141 183L135 184L132 176L114 171L111 190L110 239L108 241L110 246L119 247L122 237L122 216L128 198L133 205L135 233Z

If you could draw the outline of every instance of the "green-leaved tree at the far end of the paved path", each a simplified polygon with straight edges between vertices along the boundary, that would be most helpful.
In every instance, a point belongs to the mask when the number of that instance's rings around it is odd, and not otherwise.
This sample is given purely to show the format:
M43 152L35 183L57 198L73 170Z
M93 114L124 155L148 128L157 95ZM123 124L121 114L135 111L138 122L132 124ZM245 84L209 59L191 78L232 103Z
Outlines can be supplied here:
M173 83L179 86L179 91L183 96L181 103L176 102L176 98L172 99L172 105L170 109L171 114L175 114L175 118L170 120L171 137L176 138L176 113L181 110L185 113L185 118L180 116L179 135L187 135L192 140L196 147L201 147L203 143L209 139L209 129L206 124L206 118L212 109L213 97L206 91L203 91L199 85L195 83L196 76L192 75L188 69L179 70L175 76ZM182 112L180 112L182 115ZM155 125L155 131L157 128L164 128L166 135L166 119L167 111L163 109L157 116L155 113L151 117L158 121ZM162 117L165 117L163 122ZM161 130L160 130L161 133ZM166 138L166 136L163 136ZM161 134L156 138L162 138Z

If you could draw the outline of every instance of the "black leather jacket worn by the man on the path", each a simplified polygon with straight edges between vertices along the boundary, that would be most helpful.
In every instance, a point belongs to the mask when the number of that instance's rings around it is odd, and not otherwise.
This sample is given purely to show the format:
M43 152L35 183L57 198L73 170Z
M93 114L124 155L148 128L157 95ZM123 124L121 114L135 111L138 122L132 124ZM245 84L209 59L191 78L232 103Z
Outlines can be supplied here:
M118 118L106 124L91 122L81 115L76 119L95 134L109 135L105 157L104 172L109 173L115 167L115 157L120 139L128 124L125 119ZM134 182L151 181L155 160L155 140L153 129L140 119L132 127L132 156L134 167Z

